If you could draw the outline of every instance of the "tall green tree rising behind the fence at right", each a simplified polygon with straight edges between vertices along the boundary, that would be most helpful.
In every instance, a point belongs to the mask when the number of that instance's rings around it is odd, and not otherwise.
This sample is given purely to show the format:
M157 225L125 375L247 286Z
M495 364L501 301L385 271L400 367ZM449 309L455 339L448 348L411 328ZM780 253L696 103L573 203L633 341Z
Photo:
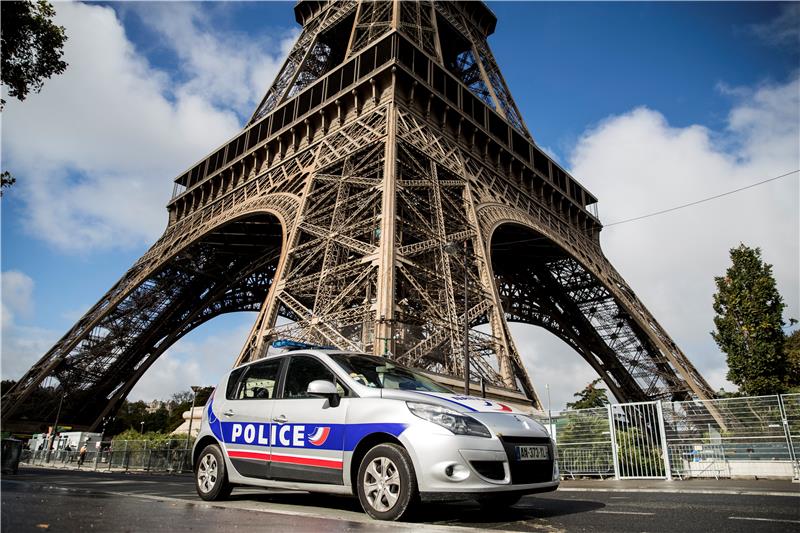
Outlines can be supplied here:
M759 248L740 244L730 251L731 267L714 278L711 336L728 360L728 380L748 395L776 394L786 387L783 350L784 303Z

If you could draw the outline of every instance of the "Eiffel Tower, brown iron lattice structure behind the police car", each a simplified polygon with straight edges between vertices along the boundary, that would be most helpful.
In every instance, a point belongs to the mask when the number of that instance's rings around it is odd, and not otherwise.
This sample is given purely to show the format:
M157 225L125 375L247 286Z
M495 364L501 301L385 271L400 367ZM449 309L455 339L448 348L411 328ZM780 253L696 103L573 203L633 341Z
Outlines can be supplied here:
M294 11L302 34L247 125L175 179L163 236L5 395L4 423L51 420L63 398L62 420L97 427L167 348L235 311L258 315L232 363L294 340L458 384L466 351L473 392L540 406L513 321L620 401L713 397L603 255L597 199L531 137L486 5Z

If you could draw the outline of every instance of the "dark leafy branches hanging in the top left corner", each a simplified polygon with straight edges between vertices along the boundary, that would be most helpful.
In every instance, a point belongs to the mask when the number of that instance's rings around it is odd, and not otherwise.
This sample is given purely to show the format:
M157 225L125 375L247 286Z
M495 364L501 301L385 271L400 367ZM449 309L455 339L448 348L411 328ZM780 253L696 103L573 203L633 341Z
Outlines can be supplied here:
M25 100L29 92L42 90L45 79L67 68L61 59L67 34L53 23L54 15L45 0L0 2L0 76L9 96Z

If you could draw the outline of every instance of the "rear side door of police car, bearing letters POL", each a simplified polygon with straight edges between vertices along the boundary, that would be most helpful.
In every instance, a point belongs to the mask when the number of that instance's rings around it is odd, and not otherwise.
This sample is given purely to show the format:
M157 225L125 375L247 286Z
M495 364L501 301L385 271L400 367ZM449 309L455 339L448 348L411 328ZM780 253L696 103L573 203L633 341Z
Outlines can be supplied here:
M248 365L238 381L227 387L226 401L219 412L222 436L225 452L243 476L269 476L270 417L282 361L270 359Z

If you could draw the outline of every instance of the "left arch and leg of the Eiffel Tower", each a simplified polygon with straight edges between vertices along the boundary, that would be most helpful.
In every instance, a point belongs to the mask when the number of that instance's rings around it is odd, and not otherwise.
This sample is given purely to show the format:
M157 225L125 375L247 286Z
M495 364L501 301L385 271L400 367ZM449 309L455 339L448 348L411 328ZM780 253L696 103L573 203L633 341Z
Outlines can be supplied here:
M97 427L184 335L221 314L259 311L293 202L254 199L213 224L160 239L7 393L4 411L35 428L52 419L63 396L64 420Z

